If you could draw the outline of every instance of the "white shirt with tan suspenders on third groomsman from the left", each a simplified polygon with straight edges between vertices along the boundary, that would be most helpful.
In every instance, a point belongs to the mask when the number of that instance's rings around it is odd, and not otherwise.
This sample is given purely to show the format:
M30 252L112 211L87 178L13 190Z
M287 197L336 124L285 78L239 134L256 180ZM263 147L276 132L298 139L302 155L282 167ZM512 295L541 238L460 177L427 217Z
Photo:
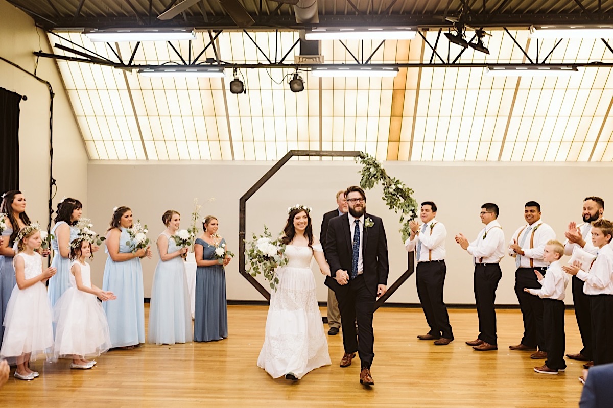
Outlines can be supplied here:
M529 227L531 227L532 230L526 232L526 229ZM547 266L547 262L543 260L543 250L545 249L547 241L555 240L554 229L545 224L543 220L539 219L539 221L534 222L532 225L526 224L519 227L516 232L513 233L511 241L509 241L509 245L513 244L514 240L517 241L517 244L520 244L525 233L528 233L528 236L526 237L524 246L522 247L524 255L516 254L516 252L510 247L509 255L514 258L520 257L520 268L543 268L544 266ZM532 260L532 264L530 264L530 260Z

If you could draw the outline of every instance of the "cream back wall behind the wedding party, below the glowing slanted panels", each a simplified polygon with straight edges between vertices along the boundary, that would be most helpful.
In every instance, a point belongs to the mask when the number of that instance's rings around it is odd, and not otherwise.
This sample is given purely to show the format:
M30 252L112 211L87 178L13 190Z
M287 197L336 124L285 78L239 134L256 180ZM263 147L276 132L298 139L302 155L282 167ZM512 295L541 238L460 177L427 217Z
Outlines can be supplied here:
M508 239L524 222L524 204L536 200L543 208L543 219L552 225L563 240L569 221L581 221L582 200L587 195L600 195L611 202L610 189L604 180L613 175L607 164L414 164L384 162L387 172L405 181L415 191L419 202L433 200L438 205L437 219L447 227L447 303L474 304L473 265L470 255L455 244L455 233L473 238L481 230L479 211L484 202L500 206L499 221ZM134 165L116 162L90 162L88 165L88 208L94 226L103 232L112 209L119 205L132 208L135 218L149 225L150 237L164 229L161 216L172 208L181 213L181 227L189 225L189 214L195 197L205 203L202 216L219 218L219 233L226 237L230 249L238 249L238 199L272 166L270 163L177 164L156 162ZM319 235L322 215L335 208L335 193L359 183L359 165L354 162L297 162L281 168L262 189L247 202L247 236L261 233L266 224L280 231L286 221L287 207L303 203L313 207L314 232ZM370 213L383 217L390 255L389 284L406 270L406 252L400 239L398 216L388 210L381 189L367 191ZM605 216L607 213L605 213ZM106 255L93 262L94 281L102 282ZM231 300L262 300L261 295L238 274L237 260L227 268L227 297ZM151 278L157 262L143 260L145 296L151 292ZM503 278L497 292L497 303L517 304L513 291L515 264L511 258L502 263ZM314 271L316 279L323 281ZM326 288L318 288L318 300L326 300ZM418 303L414 277L390 297L389 301ZM572 303L570 288L567 303Z

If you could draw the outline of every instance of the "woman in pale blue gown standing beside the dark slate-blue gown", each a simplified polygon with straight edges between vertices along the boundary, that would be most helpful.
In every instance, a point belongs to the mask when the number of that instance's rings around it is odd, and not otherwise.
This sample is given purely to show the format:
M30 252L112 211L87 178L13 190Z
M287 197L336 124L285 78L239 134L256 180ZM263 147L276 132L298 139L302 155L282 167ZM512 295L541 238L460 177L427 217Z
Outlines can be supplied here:
M166 230L158 236L159 262L153 274L149 309L148 343L175 344L191 341L191 308L183 255L188 247L170 238L177 233L181 214L168 210L162 215Z

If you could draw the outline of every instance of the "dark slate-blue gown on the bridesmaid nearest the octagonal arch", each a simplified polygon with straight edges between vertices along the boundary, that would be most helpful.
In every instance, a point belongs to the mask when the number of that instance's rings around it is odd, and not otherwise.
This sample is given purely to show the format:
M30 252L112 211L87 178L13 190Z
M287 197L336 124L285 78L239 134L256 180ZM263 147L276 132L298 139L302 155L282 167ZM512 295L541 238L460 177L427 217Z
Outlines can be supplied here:
M222 239L221 244L226 240ZM215 246L198 238L202 259L213 260ZM194 341L215 341L228 336L226 306L226 271L221 264L196 268L196 309L194 311Z

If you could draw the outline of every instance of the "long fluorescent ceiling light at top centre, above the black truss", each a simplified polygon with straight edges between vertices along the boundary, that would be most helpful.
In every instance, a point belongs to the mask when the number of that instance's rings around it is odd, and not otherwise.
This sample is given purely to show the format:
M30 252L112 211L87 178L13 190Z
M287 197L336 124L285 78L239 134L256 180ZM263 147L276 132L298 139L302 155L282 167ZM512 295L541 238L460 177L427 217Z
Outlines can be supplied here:
M413 40L417 34L414 27L352 28L318 27L305 30L307 40Z

